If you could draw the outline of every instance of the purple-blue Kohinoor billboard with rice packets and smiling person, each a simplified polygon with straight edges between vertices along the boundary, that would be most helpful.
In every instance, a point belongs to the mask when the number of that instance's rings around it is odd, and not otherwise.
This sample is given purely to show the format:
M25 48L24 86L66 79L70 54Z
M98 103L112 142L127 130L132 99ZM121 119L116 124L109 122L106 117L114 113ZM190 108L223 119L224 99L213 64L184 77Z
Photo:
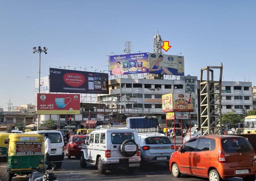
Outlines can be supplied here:
M110 75L142 74L149 72L149 53L114 55L109 57Z

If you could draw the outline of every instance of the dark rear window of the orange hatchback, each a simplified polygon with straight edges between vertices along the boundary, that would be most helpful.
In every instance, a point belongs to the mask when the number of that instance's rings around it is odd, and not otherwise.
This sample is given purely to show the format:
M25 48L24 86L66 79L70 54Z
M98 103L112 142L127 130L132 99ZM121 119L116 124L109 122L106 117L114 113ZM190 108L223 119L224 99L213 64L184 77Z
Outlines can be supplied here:
M227 153L252 152L251 144L245 138L223 138L221 139L222 148Z

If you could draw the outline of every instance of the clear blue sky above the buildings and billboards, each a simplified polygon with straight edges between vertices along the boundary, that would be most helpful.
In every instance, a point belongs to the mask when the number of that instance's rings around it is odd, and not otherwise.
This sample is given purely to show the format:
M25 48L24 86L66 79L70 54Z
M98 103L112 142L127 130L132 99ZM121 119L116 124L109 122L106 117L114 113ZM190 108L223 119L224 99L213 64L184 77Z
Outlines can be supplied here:
M153 52L157 31L182 53L185 75L223 63L224 81L256 86L256 1L4 1L0 0L0 106L34 104L39 55L41 76L49 67L106 70L107 55ZM77 70L83 70L77 68ZM216 75L217 76L217 75ZM6 110L6 109L5 109Z

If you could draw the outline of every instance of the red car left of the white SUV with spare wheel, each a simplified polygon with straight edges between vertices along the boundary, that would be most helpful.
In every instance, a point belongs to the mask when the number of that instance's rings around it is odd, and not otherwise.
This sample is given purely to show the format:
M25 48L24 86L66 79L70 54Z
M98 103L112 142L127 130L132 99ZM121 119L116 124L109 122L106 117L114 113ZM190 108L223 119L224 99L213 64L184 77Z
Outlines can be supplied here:
M85 144L86 140L89 139L89 135L73 135L69 139L69 142L66 145L66 155L68 159L71 156L75 156L76 158L80 157L80 150L82 146Z

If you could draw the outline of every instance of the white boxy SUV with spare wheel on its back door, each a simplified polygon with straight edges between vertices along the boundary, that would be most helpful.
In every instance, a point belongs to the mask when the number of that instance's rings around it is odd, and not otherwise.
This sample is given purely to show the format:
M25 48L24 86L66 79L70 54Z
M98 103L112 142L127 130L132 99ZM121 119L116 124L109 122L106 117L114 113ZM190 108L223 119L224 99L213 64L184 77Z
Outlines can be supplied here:
M99 129L92 131L88 143L83 146L80 165L97 165L99 173L117 167L127 167L134 172L140 166L140 145L135 129Z

